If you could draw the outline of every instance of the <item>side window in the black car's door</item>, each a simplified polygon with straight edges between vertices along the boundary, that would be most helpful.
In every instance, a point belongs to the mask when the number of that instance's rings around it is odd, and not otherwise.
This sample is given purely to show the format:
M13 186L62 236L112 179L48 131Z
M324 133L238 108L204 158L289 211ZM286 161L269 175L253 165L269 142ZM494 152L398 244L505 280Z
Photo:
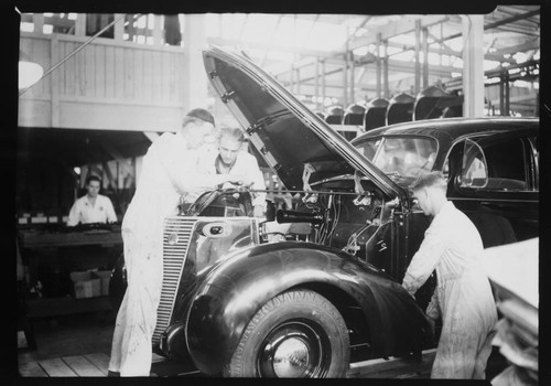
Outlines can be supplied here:
M529 186L525 143L520 138L465 140L462 187L488 191L526 191Z

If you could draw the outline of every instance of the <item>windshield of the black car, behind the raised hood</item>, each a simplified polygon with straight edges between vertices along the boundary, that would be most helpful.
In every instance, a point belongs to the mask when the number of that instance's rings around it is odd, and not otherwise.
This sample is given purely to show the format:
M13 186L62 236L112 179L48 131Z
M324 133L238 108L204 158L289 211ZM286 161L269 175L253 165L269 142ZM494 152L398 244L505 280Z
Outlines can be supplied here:
M383 137L357 146L382 172L415 178L421 170L431 171L436 158L436 141L419 137Z

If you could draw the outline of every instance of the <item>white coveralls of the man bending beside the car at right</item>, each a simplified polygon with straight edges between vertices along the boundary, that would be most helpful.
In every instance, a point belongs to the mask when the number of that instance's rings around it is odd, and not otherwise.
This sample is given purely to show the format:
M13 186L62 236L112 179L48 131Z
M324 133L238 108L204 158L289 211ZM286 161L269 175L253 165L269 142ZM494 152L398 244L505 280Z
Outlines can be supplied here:
M402 286L411 293L436 269L437 287L426 313L442 315L431 378L484 379L497 311L483 267L483 243L468 217L447 202L434 216Z

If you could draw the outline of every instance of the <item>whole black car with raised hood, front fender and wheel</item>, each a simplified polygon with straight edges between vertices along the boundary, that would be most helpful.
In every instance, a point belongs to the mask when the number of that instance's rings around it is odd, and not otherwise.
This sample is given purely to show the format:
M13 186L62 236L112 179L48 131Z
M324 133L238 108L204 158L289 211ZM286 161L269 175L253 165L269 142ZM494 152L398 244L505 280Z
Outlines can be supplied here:
M259 222L255 192L237 187L165 219L161 355L215 376L345 377L350 362L430 347L432 288L415 300L400 285L430 223L407 189L422 170L444 170L461 208L503 217L517 239L537 232L537 120L415 121L350 143L250 60L208 47L204 63L299 204ZM504 158L507 139L520 149Z

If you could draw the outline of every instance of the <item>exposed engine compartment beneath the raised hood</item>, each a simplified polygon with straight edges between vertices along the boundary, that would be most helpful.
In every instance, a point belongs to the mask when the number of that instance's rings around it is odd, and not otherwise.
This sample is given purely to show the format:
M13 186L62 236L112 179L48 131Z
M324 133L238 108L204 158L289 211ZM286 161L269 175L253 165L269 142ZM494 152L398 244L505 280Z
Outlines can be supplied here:
M385 197L366 178L344 175L323 180L294 193L292 210L268 210L260 222L260 243L298 240L342 249L360 260L390 268L391 224L397 201ZM246 187L207 192L184 216L251 215L252 191Z

